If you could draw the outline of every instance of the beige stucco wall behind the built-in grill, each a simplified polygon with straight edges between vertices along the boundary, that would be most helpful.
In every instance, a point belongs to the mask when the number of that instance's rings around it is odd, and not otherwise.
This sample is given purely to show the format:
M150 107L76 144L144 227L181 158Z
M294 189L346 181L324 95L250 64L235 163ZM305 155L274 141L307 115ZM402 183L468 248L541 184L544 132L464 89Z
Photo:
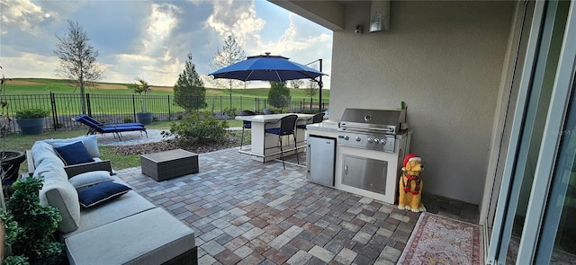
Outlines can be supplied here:
M406 102L424 192L480 204L514 5L392 2L391 29L378 33L367 31L369 2L348 5L333 37L330 118Z

